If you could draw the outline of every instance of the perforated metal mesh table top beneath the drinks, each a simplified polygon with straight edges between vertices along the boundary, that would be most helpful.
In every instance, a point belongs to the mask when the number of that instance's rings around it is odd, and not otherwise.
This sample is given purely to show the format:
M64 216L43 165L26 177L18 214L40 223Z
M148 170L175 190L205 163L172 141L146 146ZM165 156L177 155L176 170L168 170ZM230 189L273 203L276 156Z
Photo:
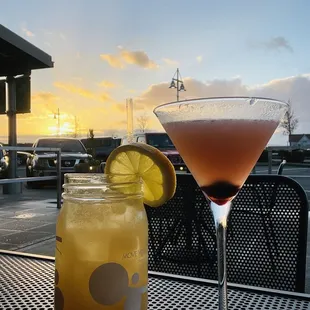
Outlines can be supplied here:
M217 287L150 274L149 309L217 310ZM0 309L54 309L54 262L0 253ZM230 288L230 310L310 310L310 295Z

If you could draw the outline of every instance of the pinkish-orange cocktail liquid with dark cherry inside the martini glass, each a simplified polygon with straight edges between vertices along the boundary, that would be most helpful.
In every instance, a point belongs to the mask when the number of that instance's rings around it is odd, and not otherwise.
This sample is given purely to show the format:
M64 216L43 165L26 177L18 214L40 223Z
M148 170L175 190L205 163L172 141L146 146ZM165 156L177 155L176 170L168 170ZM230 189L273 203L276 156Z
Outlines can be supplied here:
M278 122L193 120L163 126L203 192L223 205L242 187Z

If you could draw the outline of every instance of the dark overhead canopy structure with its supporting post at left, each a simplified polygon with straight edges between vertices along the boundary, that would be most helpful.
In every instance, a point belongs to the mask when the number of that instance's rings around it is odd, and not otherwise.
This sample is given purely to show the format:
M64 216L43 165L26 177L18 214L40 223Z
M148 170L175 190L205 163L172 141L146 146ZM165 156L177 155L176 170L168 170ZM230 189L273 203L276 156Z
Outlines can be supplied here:
M20 102L16 104L16 100L26 101L27 96L16 96L16 81L24 79L22 86L23 93L29 94L29 111L30 111L30 74L32 70L52 68L54 63L52 57L25 39L21 38L11 30L0 24L0 77L6 77L7 87L1 87L2 101L7 98L5 113L8 116L9 127L9 146L16 146L16 114L20 111L18 107ZM16 77L19 76L19 77ZM19 80L17 80L17 78ZM5 86L2 82L2 86ZM3 96L5 95L5 96ZM0 96L1 97L1 96ZM0 98L1 99L1 98ZM1 101L1 100L0 100ZM4 102L5 103L5 102ZM21 103L23 105L23 102ZM1 105L1 102L0 102ZM21 112L22 113L22 112ZM16 151L10 151L10 164L8 170L9 178L16 178L17 174ZM20 190L16 184L8 184L9 194L15 194Z

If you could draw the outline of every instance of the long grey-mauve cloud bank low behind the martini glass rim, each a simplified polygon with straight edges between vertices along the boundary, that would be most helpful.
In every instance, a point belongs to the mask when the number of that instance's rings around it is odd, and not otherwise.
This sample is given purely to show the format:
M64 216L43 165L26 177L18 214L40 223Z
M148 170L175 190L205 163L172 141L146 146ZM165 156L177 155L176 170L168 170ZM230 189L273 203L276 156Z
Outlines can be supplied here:
M180 99L217 96L257 96L283 101L291 99L294 112L299 119L297 132L310 132L310 74L271 80L261 85L245 85L241 78L211 80L202 82L191 78L184 79L186 92L180 92ZM150 86L134 99L135 110L152 111L159 104L176 100L175 90L169 89L169 82ZM158 126L158 124L157 124Z

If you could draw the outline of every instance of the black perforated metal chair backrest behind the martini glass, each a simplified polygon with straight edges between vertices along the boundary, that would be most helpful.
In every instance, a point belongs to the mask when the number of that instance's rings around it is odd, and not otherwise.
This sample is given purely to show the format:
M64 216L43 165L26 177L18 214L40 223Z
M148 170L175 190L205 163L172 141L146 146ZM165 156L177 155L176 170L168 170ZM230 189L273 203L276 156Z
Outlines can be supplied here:
M149 269L217 279L209 202L190 174L177 176L175 196L146 211ZM251 175L233 206L227 232L227 276L233 283L303 292L308 200L294 180Z

